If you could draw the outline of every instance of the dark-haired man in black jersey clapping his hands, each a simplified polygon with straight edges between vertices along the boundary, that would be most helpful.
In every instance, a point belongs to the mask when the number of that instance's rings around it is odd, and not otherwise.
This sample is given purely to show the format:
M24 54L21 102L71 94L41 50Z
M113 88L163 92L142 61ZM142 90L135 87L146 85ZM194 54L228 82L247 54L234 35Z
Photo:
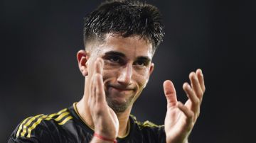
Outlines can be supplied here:
M164 81L164 126L130 115L163 37L155 6L118 0L101 4L85 18L86 51L77 54L85 76L82 99L58 113L26 118L9 142L188 142L205 91L201 69L189 74L191 84L183 84L185 104L177 101L172 82Z

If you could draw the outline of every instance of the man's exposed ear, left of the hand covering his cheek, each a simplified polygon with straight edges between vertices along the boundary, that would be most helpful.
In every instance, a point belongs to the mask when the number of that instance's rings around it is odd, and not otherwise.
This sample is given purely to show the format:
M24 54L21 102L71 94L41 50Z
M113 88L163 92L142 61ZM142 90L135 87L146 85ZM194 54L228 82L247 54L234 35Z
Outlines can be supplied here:
M82 76L87 76L87 60L89 58L89 53L85 52L85 50L78 51L77 59L78 59L78 67L82 73Z

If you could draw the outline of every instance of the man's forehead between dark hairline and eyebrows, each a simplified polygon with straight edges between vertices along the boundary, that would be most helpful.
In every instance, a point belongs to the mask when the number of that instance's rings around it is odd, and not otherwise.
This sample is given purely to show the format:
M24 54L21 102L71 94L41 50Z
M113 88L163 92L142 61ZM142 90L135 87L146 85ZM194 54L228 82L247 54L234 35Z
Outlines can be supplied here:
M121 52L129 58L149 57L151 59L153 56L151 43L138 35L123 38L119 35L107 34L105 42L96 49L101 54L110 51Z

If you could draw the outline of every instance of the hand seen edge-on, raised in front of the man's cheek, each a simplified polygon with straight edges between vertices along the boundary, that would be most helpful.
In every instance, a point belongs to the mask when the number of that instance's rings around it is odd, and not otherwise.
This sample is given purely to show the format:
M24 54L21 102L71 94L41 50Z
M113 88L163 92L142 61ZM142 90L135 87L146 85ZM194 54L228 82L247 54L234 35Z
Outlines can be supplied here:
M98 58L93 63L94 68L90 71L92 78L88 105L92 115L95 132L108 139L115 139L119 130L119 121L114 111L107 105L102 79L103 60Z

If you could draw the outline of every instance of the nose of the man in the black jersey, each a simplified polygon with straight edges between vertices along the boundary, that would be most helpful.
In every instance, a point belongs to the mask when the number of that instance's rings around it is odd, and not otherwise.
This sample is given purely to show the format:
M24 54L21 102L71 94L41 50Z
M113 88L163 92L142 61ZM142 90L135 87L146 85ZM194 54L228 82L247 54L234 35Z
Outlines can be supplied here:
M128 86L132 83L132 65L127 64L125 67L120 69L117 82L119 84L124 84L125 86Z

